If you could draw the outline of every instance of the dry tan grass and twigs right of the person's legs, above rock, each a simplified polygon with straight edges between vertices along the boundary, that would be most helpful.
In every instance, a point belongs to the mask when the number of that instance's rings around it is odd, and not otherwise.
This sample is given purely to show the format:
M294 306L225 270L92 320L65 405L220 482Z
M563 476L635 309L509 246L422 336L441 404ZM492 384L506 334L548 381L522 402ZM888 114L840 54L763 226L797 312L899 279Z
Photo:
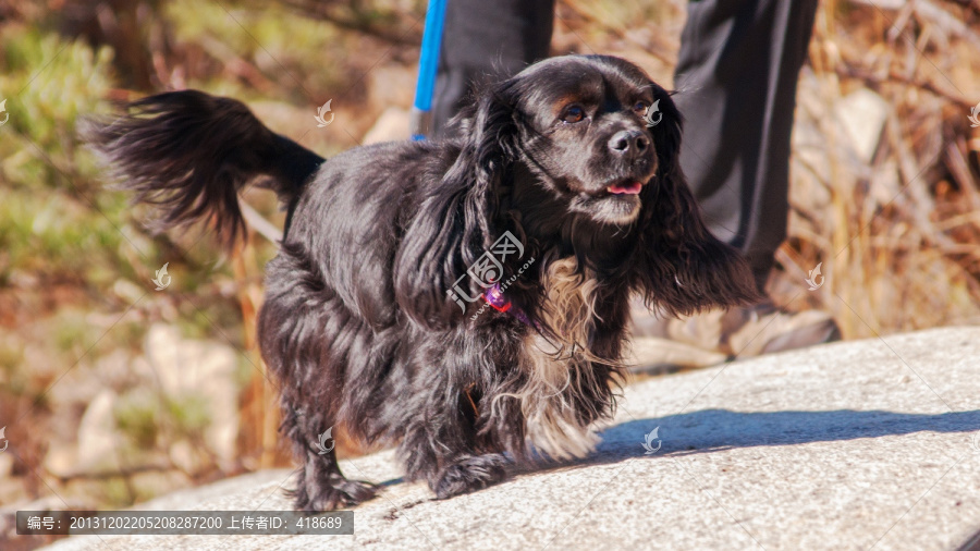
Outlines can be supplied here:
M845 338L980 321L978 140L965 96L980 89L977 19L923 1L829 1L818 13L780 258L797 289L823 262L826 283L801 298L833 311ZM873 109L846 107L860 97L877 99L880 135ZM877 146L857 146L848 123Z

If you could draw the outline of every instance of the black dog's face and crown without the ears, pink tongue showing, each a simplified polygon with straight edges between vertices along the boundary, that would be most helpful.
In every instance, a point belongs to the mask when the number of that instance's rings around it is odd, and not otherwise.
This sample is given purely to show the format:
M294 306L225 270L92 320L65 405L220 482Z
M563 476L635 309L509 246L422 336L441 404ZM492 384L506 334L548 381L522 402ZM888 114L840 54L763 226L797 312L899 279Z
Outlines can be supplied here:
M519 149L540 183L569 213L634 222L644 186L676 155L677 136L657 132L679 124L667 93L636 65L599 56L532 65L511 93Z

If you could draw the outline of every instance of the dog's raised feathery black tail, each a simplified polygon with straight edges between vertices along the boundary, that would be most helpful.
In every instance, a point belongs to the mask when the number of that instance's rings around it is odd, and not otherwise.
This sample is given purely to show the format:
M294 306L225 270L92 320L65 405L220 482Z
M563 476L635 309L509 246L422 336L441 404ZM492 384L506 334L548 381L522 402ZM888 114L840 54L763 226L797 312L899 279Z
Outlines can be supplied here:
M210 219L225 246L245 231L238 192L249 182L293 206L323 158L267 128L230 98L197 90L150 96L110 122L89 121L83 139L101 154L134 203L160 209L155 231ZM289 225L289 222L286 222Z

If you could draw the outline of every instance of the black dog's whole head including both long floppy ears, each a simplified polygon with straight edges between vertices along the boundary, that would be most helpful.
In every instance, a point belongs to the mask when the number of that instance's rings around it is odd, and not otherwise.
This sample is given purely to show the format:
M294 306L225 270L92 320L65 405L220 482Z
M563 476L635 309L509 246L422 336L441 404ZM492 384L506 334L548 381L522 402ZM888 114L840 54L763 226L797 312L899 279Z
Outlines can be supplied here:
M580 266L616 250L628 285L670 311L756 297L747 266L711 236L687 188L681 113L636 65L552 58L483 87L455 122L460 155L406 234L403 258L415 260L397 267L415 274L400 302L417 321L461 314L446 293L505 223L542 247L571 242ZM483 291L466 283L470 296Z

